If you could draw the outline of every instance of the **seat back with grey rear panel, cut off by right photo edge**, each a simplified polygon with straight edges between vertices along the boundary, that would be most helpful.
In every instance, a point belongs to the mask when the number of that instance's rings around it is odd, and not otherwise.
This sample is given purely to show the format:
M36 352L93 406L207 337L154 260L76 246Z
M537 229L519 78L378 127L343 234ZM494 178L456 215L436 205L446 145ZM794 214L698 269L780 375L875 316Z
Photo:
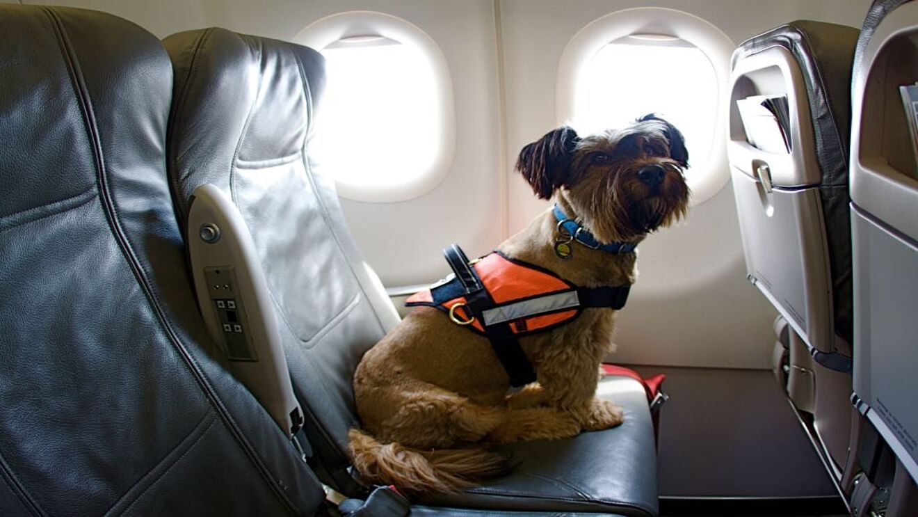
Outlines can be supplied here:
M918 509L918 2L876 0L852 84L857 412L851 505ZM910 130L911 126L911 130Z

